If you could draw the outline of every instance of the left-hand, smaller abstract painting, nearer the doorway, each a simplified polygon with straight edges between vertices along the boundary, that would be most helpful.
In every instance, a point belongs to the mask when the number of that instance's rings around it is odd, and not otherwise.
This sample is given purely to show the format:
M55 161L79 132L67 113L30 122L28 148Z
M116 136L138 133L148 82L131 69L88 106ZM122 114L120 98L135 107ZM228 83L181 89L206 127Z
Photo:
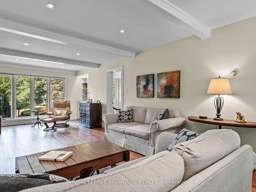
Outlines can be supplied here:
M137 97L152 98L154 97L154 74L140 75L137 80Z

